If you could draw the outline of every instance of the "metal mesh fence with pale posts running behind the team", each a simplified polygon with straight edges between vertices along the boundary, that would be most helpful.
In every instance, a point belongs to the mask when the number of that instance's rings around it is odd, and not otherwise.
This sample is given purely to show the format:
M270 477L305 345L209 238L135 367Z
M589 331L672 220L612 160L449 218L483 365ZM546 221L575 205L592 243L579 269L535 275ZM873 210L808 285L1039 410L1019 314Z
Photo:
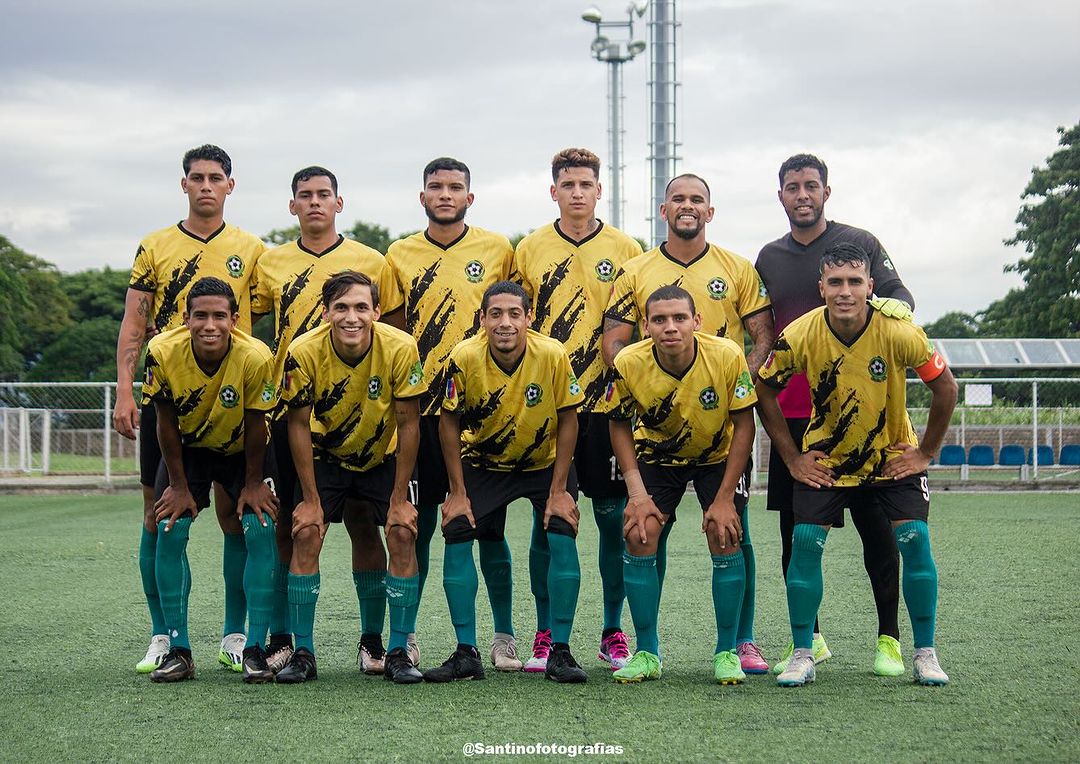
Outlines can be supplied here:
M960 399L933 466L959 481L1080 482L1080 377L961 378ZM138 442L112 430L114 383L0 383L0 479L96 478L138 474ZM137 398L136 398L137 400ZM930 398L908 387L916 429ZM755 483L765 483L769 438L758 427Z

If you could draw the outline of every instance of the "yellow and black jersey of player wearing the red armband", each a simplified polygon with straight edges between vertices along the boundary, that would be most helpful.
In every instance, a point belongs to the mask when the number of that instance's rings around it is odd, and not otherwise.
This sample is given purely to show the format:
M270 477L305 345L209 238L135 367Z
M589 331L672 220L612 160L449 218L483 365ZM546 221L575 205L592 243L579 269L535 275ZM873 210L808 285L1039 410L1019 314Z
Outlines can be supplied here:
M867 308L851 343L836 336L824 307L789 323L777 337L760 379L783 389L797 373L810 381L812 410L802 452L823 451L839 487L880 480L893 443L918 445L906 407L906 370L924 381L945 371L926 333L909 321Z

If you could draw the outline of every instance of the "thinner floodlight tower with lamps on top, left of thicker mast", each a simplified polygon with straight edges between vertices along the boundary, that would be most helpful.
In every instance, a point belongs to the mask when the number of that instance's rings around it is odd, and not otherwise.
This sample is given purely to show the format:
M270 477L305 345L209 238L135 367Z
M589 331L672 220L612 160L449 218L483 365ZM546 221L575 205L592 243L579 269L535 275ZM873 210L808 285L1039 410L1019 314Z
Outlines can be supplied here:
M581 18L596 27L596 37L591 50L593 58L608 65L608 198L611 203L610 223L622 228L622 65L645 50L645 42L634 39L634 17L645 14L647 3L631 2L626 6L625 22L605 22L599 9L586 8ZM603 33L606 29L617 29L620 39L613 40Z

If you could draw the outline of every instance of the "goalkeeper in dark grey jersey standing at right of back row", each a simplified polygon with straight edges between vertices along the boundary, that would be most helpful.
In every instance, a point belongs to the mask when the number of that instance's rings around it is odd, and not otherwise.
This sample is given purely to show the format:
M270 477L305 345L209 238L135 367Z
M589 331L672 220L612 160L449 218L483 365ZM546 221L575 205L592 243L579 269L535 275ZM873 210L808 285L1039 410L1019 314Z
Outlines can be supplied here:
M842 223L825 219L828 200L828 169L816 157L800 153L791 157L780 166L780 199L791 231L766 244L757 256L757 270L769 290L777 332L807 311L820 308L819 264L821 256L837 242L850 242L869 254L870 276L879 297L887 298L878 306L896 316L910 316L907 308L915 307L912 293L904 286L892 260L881 243L869 232ZM906 306L902 306L903 301ZM753 368L753 366L752 366ZM810 423L810 387L804 375L797 374L780 393L780 408L787 420L792 439L800 442ZM780 512L781 565L784 576L792 558L792 532L795 519L792 510L792 479L775 446L769 453L769 490L767 507ZM904 673L900 651L900 551L893 539L892 527L885 512L876 508L853 513L851 520L863 541L863 562L874 590L878 613L878 639L874 658L874 672L879 675ZM836 526L843 525L842 515ZM829 653L825 638L814 624L814 659L821 662ZM781 660L773 667L780 673L792 654L787 646Z

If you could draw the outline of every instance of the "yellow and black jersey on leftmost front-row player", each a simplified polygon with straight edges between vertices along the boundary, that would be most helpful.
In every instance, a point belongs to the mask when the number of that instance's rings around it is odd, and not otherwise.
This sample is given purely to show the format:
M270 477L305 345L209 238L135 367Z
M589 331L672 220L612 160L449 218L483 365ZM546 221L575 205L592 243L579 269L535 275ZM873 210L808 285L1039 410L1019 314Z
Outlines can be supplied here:
M150 339L143 394L173 404L184 445L238 454L244 411L270 411L278 400L273 357L258 339L233 330L229 352L206 374L191 350L191 332L177 326Z

